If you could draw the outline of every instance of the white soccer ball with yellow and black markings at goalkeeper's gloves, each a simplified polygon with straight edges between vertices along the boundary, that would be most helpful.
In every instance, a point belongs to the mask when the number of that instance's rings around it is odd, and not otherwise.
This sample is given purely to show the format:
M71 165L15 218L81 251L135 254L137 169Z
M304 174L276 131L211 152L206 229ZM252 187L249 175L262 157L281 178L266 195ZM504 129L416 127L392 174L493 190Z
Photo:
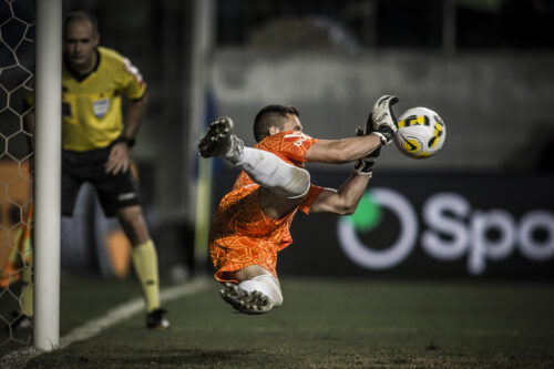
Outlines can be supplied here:
M427 107L408 109L398 119L394 143L402 154L425 158L437 154L447 139L447 126L439 114Z

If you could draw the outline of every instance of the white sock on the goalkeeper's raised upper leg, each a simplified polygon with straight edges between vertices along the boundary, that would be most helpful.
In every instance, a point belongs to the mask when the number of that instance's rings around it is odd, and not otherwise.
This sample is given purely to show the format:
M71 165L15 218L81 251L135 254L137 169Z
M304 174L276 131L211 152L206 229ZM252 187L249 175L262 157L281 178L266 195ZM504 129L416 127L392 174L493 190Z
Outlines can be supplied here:
M236 165L260 186L288 198L304 196L310 187L308 171L288 164L264 150L244 147L243 157Z

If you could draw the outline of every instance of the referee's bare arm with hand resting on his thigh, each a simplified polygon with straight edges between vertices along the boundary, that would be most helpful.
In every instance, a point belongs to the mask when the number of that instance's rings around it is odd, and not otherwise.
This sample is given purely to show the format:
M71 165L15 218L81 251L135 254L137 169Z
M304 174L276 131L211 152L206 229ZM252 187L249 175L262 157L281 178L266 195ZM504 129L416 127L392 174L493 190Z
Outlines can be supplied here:
M105 172L117 174L126 172L131 165L129 156L130 148L134 145L138 129L146 112L147 95L138 100L132 100L125 114L125 126L119 142L112 147L112 152L105 165Z

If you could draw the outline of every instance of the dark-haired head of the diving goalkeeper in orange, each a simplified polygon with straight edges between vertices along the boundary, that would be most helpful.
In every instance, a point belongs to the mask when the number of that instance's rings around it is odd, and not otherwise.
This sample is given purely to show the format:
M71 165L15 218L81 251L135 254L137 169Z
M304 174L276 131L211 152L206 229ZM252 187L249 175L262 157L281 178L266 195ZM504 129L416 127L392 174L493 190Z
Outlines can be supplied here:
M295 106L267 105L254 119L254 137L260 142L281 131L301 131L300 112Z

